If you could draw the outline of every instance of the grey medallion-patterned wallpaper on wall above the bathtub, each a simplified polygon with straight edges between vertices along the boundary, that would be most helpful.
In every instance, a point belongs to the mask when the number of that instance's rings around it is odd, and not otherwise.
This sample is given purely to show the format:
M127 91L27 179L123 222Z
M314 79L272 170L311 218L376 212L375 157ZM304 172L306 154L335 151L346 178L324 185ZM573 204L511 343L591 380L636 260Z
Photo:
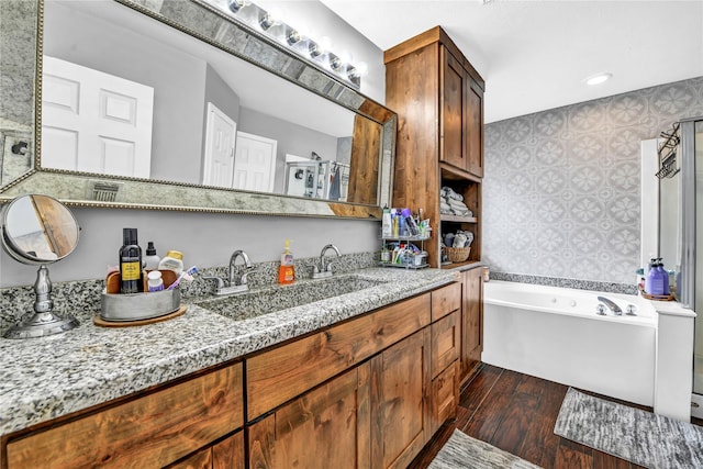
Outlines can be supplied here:
M635 282L640 141L703 115L703 77L486 125L483 260Z

